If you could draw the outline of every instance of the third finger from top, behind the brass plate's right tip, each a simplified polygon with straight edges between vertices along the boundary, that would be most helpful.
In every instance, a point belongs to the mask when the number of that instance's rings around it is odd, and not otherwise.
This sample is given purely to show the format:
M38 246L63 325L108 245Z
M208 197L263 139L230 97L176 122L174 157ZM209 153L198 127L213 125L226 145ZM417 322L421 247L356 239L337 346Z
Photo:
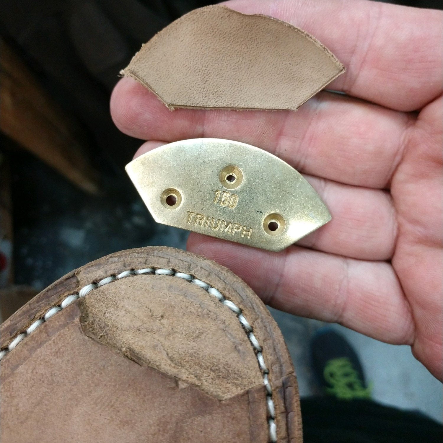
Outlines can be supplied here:
M163 143L146 142L135 157ZM330 209L332 220L304 237L298 245L362 260L388 260L392 257L396 218L387 192L342 185L312 176L305 178Z

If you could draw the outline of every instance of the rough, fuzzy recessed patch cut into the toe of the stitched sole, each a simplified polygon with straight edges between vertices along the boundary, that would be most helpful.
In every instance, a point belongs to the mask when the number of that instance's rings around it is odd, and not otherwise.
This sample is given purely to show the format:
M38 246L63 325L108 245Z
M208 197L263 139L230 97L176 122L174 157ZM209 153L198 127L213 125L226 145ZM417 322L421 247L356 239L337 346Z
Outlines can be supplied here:
M263 384L237 317L186 280L119 280L86 295L80 309L89 337L220 400Z

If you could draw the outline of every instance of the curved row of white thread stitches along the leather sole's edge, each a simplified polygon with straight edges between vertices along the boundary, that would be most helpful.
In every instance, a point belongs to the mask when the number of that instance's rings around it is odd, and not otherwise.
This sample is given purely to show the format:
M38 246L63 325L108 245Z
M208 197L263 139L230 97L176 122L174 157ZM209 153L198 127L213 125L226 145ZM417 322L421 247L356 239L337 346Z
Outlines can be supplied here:
M183 280L188 281L190 284L195 284L199 288L205 290L208 294L214 296L220 303L228 307L236 316L238 321L241 324L243 330L245 330L246 336L253 347L254 354L256 356L258 367L260 369L261 376L263 378L263 384L266 389L266 409L268 414L268 436L269 442L275 443L277 441L277 429L275 423L275 404L272 399L272 386L269 382L269 369L266 366L266 363L263 358L263 348L260 346L260 343L256 339L254 335L253 327L249 324L248 320L245 319L243 315L243 311L239 308L235 303L225 298L225 296L218 291L216 288L213 288L210 284L202 280L196 279L194 276L190 274L185 274L183 272L176 272L174 269L166 269L166 268L144 268L144 269L130 269L128 271L120 272L117 275L111 275L101 279L97 283L90 283L83 288L81 288L78 292L74 294L67 295L60 304L55 305L48 309L45 314L42 315L39 319L35 320L35 322L31 323L31 325L18 334L16 334L15 338L8 344L8 346L2 348L0 350L0 361L9 354L12 350L16 348L16 346L23 341L28 335L32 334L40 325L47 322L53 315L57 314L59 311L62 311L64 308L68 307L71 303L73 303L77 299L81 299L85 297L85 295L89 294L89 292L93 291L96 288L100 288L101 286L105 286L106 284L112 283L116 280L121 280L122 278L126 278L129 276L136 275L165 275L165 276L173 276L178 277Z

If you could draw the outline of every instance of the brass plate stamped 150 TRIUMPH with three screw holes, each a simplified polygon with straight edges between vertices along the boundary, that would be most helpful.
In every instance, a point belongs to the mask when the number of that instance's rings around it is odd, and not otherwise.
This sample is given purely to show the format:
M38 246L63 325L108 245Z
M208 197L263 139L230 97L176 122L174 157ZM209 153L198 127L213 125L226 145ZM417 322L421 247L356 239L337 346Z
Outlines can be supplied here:
M280 251L330 220L302 175L245 143L170 143L126 171L159 223L256 248Z

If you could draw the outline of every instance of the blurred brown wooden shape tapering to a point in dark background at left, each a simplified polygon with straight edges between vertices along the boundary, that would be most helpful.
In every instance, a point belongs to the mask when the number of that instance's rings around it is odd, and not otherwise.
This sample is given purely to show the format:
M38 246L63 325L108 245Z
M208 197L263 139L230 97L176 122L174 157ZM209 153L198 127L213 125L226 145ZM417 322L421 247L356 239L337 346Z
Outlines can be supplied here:
M0 131L82 190L98 192L98 173L84 155L70 118L2 40Z

